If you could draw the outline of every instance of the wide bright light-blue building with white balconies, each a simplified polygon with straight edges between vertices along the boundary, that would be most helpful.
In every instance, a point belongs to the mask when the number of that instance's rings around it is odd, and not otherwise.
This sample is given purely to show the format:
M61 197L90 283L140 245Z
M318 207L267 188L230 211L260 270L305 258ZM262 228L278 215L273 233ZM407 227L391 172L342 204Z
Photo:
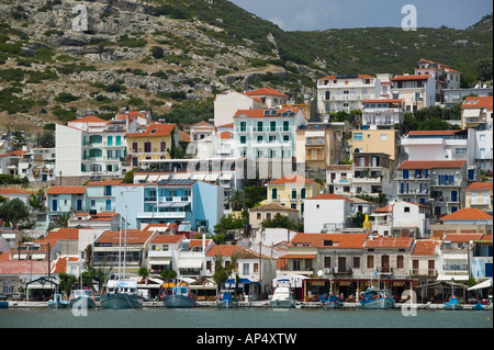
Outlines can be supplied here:
M224 189L199 180L161 180L115 188L115 212L128 228L147 224L190 223L213 232L223 215Z

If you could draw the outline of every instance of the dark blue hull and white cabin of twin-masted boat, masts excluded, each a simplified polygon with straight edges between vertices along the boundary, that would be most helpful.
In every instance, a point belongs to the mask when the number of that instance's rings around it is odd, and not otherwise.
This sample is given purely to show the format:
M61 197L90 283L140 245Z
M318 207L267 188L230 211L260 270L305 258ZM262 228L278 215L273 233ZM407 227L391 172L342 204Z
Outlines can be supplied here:
M102 308L141 308L143 300L137 293L137 283L131 280L111 280L106 293L100 298Z

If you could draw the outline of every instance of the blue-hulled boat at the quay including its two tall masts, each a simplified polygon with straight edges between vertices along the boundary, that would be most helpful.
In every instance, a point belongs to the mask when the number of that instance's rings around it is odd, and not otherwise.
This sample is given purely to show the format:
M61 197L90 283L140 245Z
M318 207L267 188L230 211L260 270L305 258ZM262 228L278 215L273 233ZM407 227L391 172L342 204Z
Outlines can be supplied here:
M120 218L122 223L122 216ZM137 293L137 281L125 280L125 251L127 240L127 223L125 222L125 245L124 245L124 279L121 279L121 249L122 249L122 225L120 225L119 238L119 278L117 280L110 280L106 283L106 293L101 295L100 303L102 308L141 308L143 307L143 300Z

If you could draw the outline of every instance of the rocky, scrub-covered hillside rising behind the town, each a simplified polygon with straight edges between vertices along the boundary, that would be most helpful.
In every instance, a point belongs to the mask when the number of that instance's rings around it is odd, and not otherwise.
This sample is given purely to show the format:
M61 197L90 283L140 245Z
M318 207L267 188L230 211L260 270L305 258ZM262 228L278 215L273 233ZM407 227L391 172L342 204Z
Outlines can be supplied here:
M401 74L420 57L474 80L474 63L492 63L484 20L465 31L284 32L226 0L0 0L0 129L36 133L122 106L192 123L212 117L214 94L229 88L300 99L328 72Z

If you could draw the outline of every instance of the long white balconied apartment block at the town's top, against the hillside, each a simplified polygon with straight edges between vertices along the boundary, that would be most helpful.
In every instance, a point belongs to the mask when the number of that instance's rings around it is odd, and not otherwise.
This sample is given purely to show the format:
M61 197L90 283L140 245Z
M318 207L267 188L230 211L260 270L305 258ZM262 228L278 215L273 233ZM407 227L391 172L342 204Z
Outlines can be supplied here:
M317 79L317 110L321 115L361 110L364 100L381 95L381 81L369 75L337 75Z

